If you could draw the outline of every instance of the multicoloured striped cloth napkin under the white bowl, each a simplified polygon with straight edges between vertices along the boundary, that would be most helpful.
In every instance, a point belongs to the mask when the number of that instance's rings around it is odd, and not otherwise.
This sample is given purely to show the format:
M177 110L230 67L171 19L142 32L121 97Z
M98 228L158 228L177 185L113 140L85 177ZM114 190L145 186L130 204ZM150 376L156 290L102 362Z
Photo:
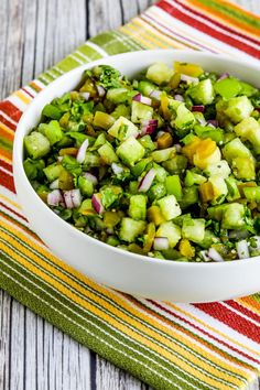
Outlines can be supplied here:
M155 389L246 389L260 369L260 294L170 304L106 289L55 258L17 203L12 142L33 97L89 61L169 47L257 61L260 18L226 0L160 1L119 30L89 40L0 104L0 286Z

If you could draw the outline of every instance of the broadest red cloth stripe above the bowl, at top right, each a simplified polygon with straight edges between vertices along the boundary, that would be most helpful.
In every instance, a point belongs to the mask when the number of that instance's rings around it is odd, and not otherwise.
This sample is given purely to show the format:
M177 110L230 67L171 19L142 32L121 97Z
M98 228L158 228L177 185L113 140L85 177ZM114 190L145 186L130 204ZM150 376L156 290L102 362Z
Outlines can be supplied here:
M192 28L199 30L201 32L205 33L206 35L210 35L215 39L217 39L220 42L225 42L230 46L234 46L240 51L243 51L248 54L250 54L253 57L260 58L260 50L253 48L246 43L242 43L230 35L225 34L223 32L216 31L209 25L204 24L203 22L198 21L195 18L192 18L191 15L187 15L185 12L180 11L176 7L174 7L173 3L169 4L166 1L161 1L156 4L156 7L161 8L169 14L171 14L173 18L181 20L182 22L191 25ZM185 9L185 7L182 4L182 8Z

